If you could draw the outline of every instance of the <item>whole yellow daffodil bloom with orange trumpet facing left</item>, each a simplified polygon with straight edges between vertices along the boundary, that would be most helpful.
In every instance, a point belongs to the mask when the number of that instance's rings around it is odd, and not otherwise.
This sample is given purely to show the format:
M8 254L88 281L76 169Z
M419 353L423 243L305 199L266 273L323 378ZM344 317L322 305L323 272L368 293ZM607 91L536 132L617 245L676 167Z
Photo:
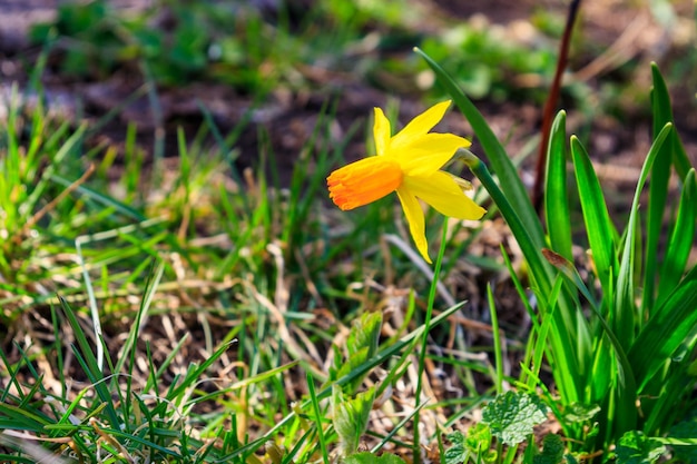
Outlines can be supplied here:
M485 213L464 195L469 182L440 170L458 148L470 146L469 140L453 134L429 132L443 119L449 106L450 101L443 101L431 107L394 137L390 121L375 108L376 156L344 166L326 179L330 198L342 210L367 205L396 191L416 248L429 263L425 219L418 198L458 219L479 219Z

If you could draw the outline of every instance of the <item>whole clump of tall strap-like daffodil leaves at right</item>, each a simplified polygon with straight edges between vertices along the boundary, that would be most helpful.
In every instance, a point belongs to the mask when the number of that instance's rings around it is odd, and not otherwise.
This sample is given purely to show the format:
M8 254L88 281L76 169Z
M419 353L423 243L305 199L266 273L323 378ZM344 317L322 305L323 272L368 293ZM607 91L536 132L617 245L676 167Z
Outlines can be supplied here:
M559 391L559 397L548 401L573 440L571 451L608 450L632 431L648 437L669 433L686 413L683 405L689 404L695 386L690 368L697 354L697 266L688 257L697 186L673 127L670 99L658 69L652 69L654 144L624 230L610 219L582 144L570 139L593 264L587 284L572 264L565 113L558 115L549 145L543 227L510 158L479 111L435 61L424 58L479 137L499 182L474 156L465 156L467 162L500 208L529 265L537 307L527 304L533 329L524 361L530 368L522 382L530 388L540 386L538 373L547 358ZM668 179L674 170L681 191L669 208ZM639 198L649 175L648 215L641 220ZM668 237L662 263L658 258L661 234ZM514 273L513 279L528 302ZM600 292L592 290L593 283ZM565 411L578 411L579 405L581 411L596 412L590 421L587 414L580 415L585 419L565 421Z

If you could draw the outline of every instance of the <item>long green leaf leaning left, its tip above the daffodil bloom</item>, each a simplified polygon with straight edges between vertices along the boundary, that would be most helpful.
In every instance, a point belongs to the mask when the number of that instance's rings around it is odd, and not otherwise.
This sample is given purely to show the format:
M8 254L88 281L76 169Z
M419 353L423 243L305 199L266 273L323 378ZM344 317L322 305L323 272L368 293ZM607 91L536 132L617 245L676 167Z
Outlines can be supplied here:
M497 136L493 134L493 130L491 130L491 127L489 127L481 112L479 112L477 107L474 107L472 101L470 101L462 89L460 89L458 83L443 70L443 68L441 68L422 50L414 49L414 51L423 57L429 67L435 73L439 82L443 86L448 93L450 93L458 108L460 108L460 111L462 111L472 126L474 134L479 138L479 141L487 154L489 162L491 162L491 166L499 178L501 190L503 190L503 194L511 203L514 210L518 211L520 220L522 221L526 230L528 230L528 235L530 236L530 240L532 240L533 246L541 249L544 246L542 225L538 219L538 215L532 207L532 203L530 203L528 191L526 190L522 180L520 180L520 176L505 152L505 149L499 139L497 139Z

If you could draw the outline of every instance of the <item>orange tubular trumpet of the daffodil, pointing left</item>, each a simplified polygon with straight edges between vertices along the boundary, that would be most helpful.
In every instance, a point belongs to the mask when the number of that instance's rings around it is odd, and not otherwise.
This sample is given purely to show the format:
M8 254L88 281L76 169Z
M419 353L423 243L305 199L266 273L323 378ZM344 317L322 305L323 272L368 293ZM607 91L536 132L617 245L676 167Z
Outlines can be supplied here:
M402 185L402 169L390 158L371 156L336 169L326 178L330 198L342 210L373 203Z

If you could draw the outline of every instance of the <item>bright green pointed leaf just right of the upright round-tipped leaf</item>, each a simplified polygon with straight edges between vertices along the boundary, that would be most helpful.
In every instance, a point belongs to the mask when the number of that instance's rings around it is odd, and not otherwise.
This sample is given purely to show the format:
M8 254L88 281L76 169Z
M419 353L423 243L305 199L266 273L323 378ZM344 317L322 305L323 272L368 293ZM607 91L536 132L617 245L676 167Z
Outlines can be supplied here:
M578 138L571 137L571 157L576 182L581 199L583 221L603 294L612 295L610 287L618 261L615 254L616 231L590 158ZM606 308L610 310L611 308Z

